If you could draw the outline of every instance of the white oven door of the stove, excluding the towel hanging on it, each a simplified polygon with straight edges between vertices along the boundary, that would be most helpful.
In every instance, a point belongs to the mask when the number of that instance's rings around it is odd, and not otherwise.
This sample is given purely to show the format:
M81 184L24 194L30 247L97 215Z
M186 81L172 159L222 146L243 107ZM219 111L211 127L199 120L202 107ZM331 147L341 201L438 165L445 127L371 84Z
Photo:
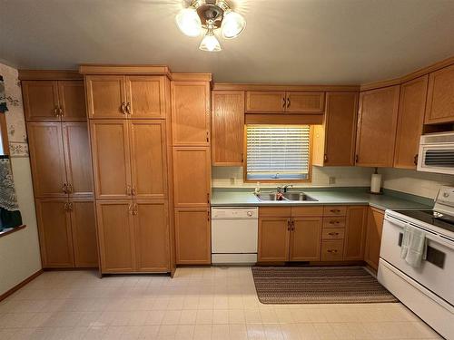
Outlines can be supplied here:
M411 224L412 227L419 228ZM411 267L404 258L400 257L400 245L403 237L405 222L386 215L381 238L380 257L393 267L398 268L407 276L413 278L437 296L454 306L454 242L441 238L428 229L427 259L421 267Z

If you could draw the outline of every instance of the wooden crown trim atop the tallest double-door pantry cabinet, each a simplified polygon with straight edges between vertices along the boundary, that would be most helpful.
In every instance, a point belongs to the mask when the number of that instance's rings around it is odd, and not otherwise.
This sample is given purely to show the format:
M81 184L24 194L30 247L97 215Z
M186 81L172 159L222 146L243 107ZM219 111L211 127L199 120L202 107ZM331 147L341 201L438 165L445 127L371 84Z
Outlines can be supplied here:
M170 76L170 69L165 65L98 64L81 63L82 74L163 74Z

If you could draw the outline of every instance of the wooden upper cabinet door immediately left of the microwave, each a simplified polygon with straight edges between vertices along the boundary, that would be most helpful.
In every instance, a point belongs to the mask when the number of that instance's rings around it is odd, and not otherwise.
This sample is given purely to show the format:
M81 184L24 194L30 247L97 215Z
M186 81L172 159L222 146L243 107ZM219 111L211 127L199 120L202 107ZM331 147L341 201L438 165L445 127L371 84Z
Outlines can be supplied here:
M429 76L425 75L400 85L394 168L416 169L418 164L419 138L424 121L428 79Z

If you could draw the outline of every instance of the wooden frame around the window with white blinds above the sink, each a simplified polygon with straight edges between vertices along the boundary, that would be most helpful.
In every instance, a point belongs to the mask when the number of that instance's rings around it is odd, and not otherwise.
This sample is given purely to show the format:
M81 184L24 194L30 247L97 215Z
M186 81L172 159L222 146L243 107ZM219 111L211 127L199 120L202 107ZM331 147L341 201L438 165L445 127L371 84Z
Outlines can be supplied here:
M312 181L312 158L313 158L313 125L311 124L261 124L262 126L274 126L274 127L289 127L295 125L309 125L309 162L308 162L308 178L305 180L290 180L290 179L280 179L280 180L272 180L272 179L264 179L264 180L249 180L248 179L248 124L244 124L244 138L243 138L243 155L244 161L242 162L242 180L244 183L311 183ZM251 124L257 125L257 124Z

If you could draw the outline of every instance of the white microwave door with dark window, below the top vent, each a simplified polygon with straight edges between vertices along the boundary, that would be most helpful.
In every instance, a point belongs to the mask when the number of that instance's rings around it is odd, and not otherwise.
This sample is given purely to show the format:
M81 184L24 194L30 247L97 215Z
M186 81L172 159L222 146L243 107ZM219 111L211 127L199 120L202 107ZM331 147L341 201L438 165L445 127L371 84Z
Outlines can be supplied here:
M454 174L454 144L420 144L417 170Z

